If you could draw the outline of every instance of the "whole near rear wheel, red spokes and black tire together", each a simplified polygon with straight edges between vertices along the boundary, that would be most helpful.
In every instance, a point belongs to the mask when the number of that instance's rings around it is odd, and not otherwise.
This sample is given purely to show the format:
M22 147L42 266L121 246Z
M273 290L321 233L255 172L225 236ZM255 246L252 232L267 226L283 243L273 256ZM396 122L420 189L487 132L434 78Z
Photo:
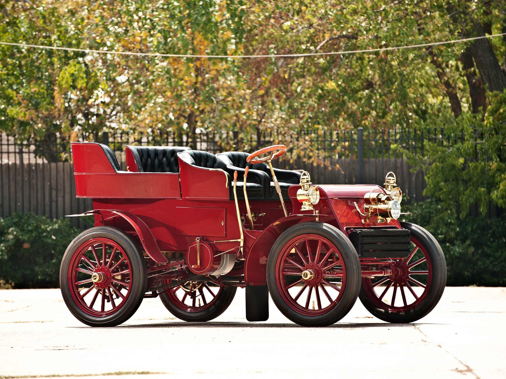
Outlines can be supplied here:
M69 245L60 267L63 300L90 326L116 326L141 305L146 262L137 244L119 229L94 227Z

